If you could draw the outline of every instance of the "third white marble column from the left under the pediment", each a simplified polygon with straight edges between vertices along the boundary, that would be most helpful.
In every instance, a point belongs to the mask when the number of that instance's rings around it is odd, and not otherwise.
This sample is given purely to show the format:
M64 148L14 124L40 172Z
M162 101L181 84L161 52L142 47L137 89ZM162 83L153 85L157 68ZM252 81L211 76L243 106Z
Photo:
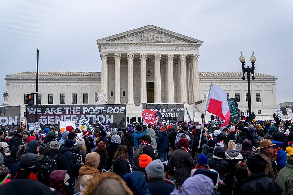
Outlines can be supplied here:
M127 106L132 105L134 106L133 101L133 57L134 54L127 54L127 61L128 61L128 67L127 67Z

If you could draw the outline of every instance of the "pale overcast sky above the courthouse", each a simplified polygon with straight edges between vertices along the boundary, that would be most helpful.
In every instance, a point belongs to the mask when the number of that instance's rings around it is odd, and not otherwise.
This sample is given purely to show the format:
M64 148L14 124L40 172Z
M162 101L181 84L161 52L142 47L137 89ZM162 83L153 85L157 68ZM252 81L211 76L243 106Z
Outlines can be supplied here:
M278 78L277 103L292 101L292 10L292 0L0 0L0 77L35 71L37 48L40 71L101 71L96 39L152 24L204 41L200 72L240 72L241 52L246 64L254 52L255 71Z

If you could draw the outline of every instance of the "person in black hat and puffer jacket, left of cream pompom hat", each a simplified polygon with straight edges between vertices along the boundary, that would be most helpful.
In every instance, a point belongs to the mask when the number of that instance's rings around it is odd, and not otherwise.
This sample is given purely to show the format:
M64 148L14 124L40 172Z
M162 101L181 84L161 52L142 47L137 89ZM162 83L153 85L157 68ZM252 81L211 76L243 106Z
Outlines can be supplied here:
M214 156L217 156L219 158L224 158L225 157L225 150L221 146L217 146L214 149ZM209 165L210 169L216 170L219 175L221 180L225 179L225 176L229 173L229 165L226 161L223 159L218 159L218 158L209 158L207 161L207 164Z

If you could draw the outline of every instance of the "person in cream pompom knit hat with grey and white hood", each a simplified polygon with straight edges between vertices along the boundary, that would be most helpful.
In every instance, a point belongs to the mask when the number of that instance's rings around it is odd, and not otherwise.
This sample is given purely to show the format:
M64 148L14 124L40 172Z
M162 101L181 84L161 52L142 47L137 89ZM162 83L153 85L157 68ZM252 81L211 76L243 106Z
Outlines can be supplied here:
M239 161L242 161L243 157L241 153L236 150L236 144L233 140L228 143L228 149L225 151L226 161L229 165L229 174L226 177L226 194L231 195L233 190L233 179L235 176L235 166Z

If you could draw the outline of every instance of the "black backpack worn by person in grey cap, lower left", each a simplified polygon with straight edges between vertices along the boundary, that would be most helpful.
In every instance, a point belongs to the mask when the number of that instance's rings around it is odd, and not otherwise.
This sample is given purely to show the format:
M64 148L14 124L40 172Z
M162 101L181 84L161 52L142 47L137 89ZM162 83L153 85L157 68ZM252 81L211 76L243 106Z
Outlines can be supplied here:
M50 187L50 174L57 168L55 160L57 156L58 154L56 154L53 158L50 158L49 155L45 157L45 160L43 161L38 172L38 182Z

